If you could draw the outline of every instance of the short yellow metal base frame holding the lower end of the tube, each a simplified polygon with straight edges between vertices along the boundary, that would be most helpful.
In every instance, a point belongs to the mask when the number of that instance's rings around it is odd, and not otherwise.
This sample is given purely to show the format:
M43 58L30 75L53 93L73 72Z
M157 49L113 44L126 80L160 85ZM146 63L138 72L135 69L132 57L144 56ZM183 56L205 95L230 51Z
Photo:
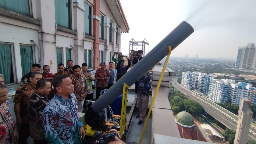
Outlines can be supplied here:
M124 130L126 129L127 126L127 115L126 115L126 107L127 107L127 94L128 94L128 89L131 86L128 86L127 84L124 83L123 87L123 93L122 93L122 109L121 109L121 115L120 115L120 131L119 134L122 136L124 133ZM94 133L97 132L97 130L93 130L92 127L89 125L86 125L85 129L85 135L86 136L91 136L93 137Z

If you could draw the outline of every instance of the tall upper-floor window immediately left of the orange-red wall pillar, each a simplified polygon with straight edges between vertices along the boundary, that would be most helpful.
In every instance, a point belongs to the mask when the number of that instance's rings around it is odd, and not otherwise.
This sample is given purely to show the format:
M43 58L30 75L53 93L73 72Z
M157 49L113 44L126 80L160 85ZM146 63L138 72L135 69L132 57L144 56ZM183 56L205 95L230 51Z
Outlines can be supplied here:
M84 3L83 6L85 7L85 12L83 14L85 34L92 35L92 7L87 3Z

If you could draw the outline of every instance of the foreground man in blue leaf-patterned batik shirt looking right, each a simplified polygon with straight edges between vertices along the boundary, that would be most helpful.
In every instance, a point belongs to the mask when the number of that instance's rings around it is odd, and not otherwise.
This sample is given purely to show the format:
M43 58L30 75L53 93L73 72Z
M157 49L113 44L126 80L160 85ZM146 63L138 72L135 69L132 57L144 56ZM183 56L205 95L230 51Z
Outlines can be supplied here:
M59 75L52 84L57 94L42 112L46 140L49 144L82 144L85 130L79 120L72 80L67 75Z

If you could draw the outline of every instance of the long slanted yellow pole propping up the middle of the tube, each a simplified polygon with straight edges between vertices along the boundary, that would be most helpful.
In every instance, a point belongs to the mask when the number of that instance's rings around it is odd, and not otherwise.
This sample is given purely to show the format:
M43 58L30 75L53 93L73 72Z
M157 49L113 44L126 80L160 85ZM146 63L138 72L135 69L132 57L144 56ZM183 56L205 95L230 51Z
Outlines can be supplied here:
M163 70L161 72L161 75L160 75L160 78L159 78L159 81L157 83L157 87L156 87L156 91L154 93L154 97L153 97L153 100L151 102L151 105L150 105L150 108L149 108L149 112L147 114L147 118L146 118L146 122L144 124L144 127L143 127L143 130L142 130L142 133L141 133L141 138L139 139L139 144L141 144L141 141L142 141L142 138L144 136L144 133L145 133L145 130L146 130L146 127L147 127L147 123L149 121L149 116L152 112L152 108L153 108L153 105L154 105L154 101L156 100L156 96L157 96L157 93L158 93L158 90L159 90L159 87L160 87L160 84L162 82L162 79L163 79L163 75L164 75L164 71L166 69L166 65L167 65L167 62L169 60L169 57L170 57L170 54L171 54L171 46L168 47L169 48L169 52L168 52L168 55L166 57L166 61L164 62L164 66L163 66Z

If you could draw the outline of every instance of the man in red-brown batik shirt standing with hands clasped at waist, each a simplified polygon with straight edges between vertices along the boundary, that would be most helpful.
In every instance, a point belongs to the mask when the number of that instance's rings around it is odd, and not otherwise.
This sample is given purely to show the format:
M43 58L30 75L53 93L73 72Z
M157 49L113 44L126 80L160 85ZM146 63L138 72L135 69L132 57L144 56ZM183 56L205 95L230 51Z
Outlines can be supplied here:
M107 80L109 79L109 70L105 68L105 62L100 62L100 68L95 72L96 83L96 100L100 97L100 92L107 89Z

